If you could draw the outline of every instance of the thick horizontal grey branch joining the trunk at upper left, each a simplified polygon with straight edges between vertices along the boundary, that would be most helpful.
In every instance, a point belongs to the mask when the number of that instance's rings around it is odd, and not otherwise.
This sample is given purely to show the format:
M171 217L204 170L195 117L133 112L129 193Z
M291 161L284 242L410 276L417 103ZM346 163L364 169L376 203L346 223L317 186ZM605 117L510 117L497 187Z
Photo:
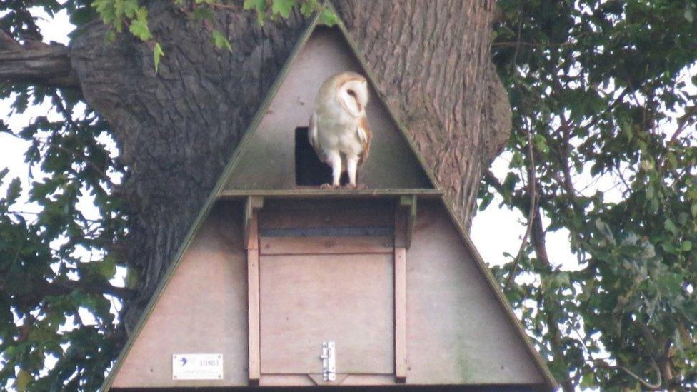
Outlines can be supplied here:
M68 53L62 44L20 44L0 30L0 82L78 87Z

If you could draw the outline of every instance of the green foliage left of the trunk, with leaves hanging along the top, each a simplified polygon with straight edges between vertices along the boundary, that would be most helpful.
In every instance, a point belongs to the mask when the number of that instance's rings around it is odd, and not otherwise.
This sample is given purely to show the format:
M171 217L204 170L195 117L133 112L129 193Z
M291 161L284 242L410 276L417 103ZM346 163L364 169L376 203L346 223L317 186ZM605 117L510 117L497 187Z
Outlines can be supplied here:
M211 31L211 44L228 51L233 47L226 35L210 27L216 11L253 5L261 24L289 16L293 7L306 16L320 7L317 0L173 4ZM166 59L145 1L6 1L0 29L21 42L41 41L31 7L49 16L67 11L78 27L101 18L111 27L107 41L131 34L151 45L155 69ZM336 23L326 11L321 19ZM12 102L9 116L45 113L21 130L0 119L1 133L29 142L31 168L25 189L0 171L0 189L6 187L0 195L0 389L93 391L126 338L115 312L137 286L137 271L118 252L128 228L118 183L128 171L109 146L107 124L76 91L2 84L0 99ZM115 279L117 270L126 271L125 278ZM126 287L114 286L119 281Z

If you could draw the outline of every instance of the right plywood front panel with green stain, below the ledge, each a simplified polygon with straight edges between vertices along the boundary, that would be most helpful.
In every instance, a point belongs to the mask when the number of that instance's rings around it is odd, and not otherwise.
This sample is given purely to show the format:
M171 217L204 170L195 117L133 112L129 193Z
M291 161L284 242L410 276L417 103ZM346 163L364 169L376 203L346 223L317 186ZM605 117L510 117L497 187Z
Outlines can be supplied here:
M438 201L418 202L406 266L407 383L543 382Z

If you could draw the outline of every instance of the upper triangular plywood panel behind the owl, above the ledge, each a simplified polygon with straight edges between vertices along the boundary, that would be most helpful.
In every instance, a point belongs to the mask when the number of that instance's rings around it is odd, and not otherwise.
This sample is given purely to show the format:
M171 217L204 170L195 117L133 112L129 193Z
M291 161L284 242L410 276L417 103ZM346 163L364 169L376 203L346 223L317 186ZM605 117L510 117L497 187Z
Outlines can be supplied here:
M310 40L318 29L322 34ZM370 69L344 26L325 28L315 20L299 39L245 132L225 171L219 196L357 193L350 189L319 191L316 186L295 183L294 138L289 136L296 127L307 126L321 82L340 71L366 75L371 88L366 108L373 129L371 156L358 172L359 182L368 186L365 193L438 193L436 178L377 90ZM314 151L307 155L314 158Z

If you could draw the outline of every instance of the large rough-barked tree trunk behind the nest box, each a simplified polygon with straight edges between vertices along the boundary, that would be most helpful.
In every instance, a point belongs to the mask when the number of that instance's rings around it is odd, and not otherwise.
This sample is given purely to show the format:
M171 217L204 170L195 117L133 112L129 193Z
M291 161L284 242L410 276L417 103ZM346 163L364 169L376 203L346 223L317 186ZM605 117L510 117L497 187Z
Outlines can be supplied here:
M469 227L483 170L508 139L510 109L489 56L494 0L334 1L403 121ZM114 131L129 174L126 257L140 269L132 326L221 175L281 66L309 23L299 13L267 21L225 9L216 29L233 45L214 49L210 32L171 1L149 19L165 56L106 28L85 26L69 57L84 98Z

